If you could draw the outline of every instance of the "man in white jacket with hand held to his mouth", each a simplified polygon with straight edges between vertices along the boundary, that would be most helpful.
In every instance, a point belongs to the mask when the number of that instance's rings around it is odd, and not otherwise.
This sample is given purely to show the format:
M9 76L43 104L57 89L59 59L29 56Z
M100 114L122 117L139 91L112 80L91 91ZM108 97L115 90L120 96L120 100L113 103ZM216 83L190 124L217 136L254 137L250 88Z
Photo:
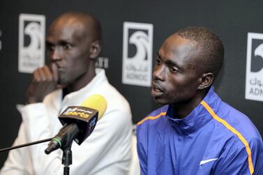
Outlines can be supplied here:
M100 94L107 110L80 146L73 142L70 174L128 174L130 106L109 84L105 70L95 68L101 50L98 20L85 13L65 13L50 26L46 42L50 65L33 72L27 105L17 107L22 124L13 145L54 137L62 127L57 116L63 109ZM47 143L10 151L0 174L63 174L62 151L46 155L46 148Z

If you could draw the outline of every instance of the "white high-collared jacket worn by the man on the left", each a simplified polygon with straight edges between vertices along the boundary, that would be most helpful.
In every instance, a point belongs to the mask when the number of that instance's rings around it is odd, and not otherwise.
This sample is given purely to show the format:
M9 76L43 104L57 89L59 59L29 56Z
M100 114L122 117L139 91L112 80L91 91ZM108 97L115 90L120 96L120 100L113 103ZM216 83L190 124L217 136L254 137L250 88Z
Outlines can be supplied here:
M109 84L105 70L96 69L96 73L96 77L87 86L69 93L63 100L60 89L46 96L44 102L18 106L22 124L13 145L54 137L62 127L57 117L63 109L80 105L91 94L100 94L107 100L107 110L91 135L80 146L73 142L70 175L128 174L132 156L130 106ZM10 151L0 174L63 174L62 151L46 155L44 150L47 144L48 142Z

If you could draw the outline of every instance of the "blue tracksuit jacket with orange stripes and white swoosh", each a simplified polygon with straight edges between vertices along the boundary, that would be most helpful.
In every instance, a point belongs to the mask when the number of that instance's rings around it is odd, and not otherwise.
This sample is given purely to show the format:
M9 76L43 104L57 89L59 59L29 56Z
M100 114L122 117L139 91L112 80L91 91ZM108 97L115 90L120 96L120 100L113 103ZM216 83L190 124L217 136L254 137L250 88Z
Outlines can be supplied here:
M137 123L141 174L263 174L263 144L247 116L209 90L184 119L163 106Z

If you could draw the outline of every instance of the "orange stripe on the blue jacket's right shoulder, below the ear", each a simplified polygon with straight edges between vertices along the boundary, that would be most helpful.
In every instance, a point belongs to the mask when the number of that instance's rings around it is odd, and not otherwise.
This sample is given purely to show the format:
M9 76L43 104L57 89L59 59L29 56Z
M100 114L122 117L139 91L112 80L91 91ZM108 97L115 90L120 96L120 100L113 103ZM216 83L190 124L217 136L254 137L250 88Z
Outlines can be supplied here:
M251 158L251 150L250 150L250 147L248 145L248 142L246 142L246 139L243 137L243 135L241 135L240 132L238 132L229 123L227 123L227 121L225 121L225 120L221 119L219 116L217 116L216 113L213 112L213 109L204 100L202 100L201 105L203 105L204 108L211 114L211 116L213 116L213 119L215 119L216 121L225 125L225 127L228 130L230 130L231 132L233 132L237 137L239 137L241 142L246 146L246 152L248 153L248 167L249 167L250 174L253 174L254 167L253 167L253 162L252 162L252 158Z

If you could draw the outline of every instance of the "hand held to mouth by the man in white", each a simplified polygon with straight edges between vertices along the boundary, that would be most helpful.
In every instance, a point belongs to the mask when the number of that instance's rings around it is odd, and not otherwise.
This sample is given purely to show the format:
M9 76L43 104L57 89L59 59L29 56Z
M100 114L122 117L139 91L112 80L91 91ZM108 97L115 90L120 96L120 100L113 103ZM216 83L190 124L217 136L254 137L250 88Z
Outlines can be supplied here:
M33 79L27 89L27 103L43 102L48 93L57 89L59 75L57 65L51 63L50 68L44 66L33 72Z

